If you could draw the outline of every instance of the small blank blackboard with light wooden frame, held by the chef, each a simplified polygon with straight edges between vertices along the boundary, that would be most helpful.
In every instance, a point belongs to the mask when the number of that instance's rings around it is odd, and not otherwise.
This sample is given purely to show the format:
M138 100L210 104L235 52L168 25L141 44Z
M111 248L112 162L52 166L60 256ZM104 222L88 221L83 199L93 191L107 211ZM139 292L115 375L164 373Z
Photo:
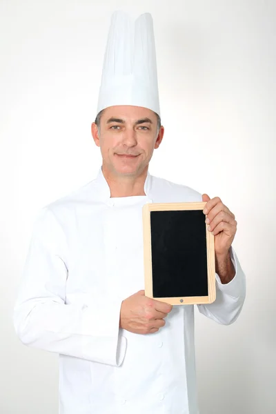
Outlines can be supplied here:
M145 295L172 305L215 301L214 236L206 202L145 204Z

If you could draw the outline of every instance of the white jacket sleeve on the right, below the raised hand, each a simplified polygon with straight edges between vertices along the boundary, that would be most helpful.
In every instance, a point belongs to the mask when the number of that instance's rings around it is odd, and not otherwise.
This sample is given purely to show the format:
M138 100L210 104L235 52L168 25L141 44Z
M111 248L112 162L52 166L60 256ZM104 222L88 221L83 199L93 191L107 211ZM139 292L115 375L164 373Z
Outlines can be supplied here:
M216 277L216 299L212 304L197 305L199 312L219 324L230 325L235 322L242 311L246 296L246 279L235 250L231 246L230 257L235 267L235 277L228 283L222 284L219 275Z

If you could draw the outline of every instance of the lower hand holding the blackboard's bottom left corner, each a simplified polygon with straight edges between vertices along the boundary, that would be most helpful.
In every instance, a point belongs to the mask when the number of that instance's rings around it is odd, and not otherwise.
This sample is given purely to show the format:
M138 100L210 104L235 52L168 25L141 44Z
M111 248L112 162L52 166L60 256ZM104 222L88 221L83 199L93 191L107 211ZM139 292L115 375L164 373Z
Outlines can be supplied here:
M145 296L144 290L131 295L121 304L120 328L133 333L155 333L165 325L164 318L172 305Z

